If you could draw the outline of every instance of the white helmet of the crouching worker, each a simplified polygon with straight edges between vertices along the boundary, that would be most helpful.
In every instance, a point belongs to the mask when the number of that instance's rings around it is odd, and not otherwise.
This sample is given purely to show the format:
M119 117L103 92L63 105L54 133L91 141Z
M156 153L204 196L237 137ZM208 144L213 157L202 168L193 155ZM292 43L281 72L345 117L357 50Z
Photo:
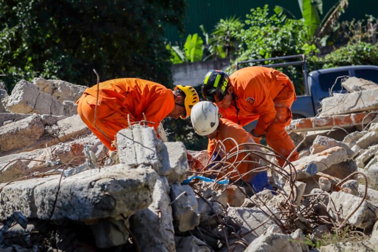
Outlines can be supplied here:
M198 135L209 135L219 125L218 107L210 101L197 102L191 108L190 120Z

